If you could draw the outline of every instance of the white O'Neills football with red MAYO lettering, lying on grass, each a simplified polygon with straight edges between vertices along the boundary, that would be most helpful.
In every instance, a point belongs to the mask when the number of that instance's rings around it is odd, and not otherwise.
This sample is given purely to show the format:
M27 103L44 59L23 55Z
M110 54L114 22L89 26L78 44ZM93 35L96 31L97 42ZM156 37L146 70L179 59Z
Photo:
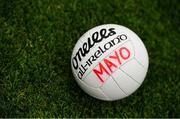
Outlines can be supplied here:
M148 53L130 29L105 24L87 31L71 56L72 72L87 94L101 100L118 100L135 92L148 70Z

